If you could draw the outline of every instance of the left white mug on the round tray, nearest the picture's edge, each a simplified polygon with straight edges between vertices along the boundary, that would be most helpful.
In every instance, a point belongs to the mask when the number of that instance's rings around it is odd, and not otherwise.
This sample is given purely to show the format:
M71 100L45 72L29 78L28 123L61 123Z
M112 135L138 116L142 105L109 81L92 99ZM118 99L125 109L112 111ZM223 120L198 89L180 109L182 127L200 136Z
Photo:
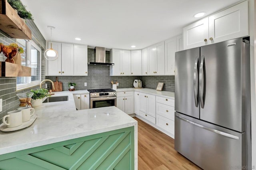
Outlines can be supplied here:
M7 122L6 123L6 119ZM7 127L18 127L22 125L22 111L10 111L3 117L3 123L4 125L7 125Z

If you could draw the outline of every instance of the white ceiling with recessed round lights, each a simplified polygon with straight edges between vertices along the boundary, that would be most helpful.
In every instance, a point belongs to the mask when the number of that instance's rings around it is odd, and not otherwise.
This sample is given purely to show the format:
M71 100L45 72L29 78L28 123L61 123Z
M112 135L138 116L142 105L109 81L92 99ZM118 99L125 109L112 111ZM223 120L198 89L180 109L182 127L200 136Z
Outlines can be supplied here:
M142 49L241 0L21 0L44 38L106 48ZM81 41L74 38L81 38ZM136 48L131 48L136 45Z

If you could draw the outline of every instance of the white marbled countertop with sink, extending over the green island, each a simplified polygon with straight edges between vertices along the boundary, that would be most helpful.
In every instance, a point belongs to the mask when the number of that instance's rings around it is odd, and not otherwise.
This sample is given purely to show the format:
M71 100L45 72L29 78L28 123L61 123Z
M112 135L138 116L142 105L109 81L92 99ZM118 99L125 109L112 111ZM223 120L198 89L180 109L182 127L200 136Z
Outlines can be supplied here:
M114 106L76 111L73 93L86 94L87 90L53 93L53 96L68 95L68 101L43 103L35 108L38 118L28 128L0 131L0 154L137 126L135 119Z

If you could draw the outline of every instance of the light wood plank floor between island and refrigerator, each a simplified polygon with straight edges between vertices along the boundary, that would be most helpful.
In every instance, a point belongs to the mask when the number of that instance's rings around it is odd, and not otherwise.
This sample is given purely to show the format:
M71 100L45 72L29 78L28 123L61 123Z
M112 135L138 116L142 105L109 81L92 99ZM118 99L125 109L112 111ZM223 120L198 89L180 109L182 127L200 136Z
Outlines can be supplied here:
M138 121L138 170L200 170L174 150L174 139Z

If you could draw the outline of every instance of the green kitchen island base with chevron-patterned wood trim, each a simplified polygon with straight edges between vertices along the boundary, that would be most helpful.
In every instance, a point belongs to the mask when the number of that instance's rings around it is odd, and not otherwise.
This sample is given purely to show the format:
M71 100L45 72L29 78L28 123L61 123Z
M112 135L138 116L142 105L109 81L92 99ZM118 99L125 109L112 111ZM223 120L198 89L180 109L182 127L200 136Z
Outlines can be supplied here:
M1 170L134 170L134 127L0 155Z

